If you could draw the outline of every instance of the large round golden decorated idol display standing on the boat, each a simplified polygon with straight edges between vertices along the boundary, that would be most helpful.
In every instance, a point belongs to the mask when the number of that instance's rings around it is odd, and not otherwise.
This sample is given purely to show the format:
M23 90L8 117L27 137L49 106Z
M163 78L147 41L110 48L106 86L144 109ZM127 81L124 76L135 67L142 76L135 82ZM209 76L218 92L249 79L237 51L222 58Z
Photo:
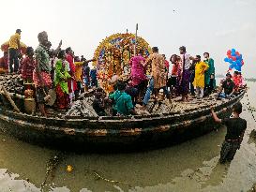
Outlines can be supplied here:
M94 58L97 61L94 65L98 69L98 82L107 93L112 91L109 82L113 75L123 79L129 77L129 60L134 56L134 45L134 34L114 34L106 37L95 51ZM136 51L143 51L143 57L146 58L151 53L151 48L142 37L137 37Z

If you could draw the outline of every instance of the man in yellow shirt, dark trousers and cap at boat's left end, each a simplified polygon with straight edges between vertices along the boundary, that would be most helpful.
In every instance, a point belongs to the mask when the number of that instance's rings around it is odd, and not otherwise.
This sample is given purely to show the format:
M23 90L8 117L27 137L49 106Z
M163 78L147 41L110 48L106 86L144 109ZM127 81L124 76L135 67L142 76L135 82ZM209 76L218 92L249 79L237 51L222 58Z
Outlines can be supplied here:
M16 33L9 38L8 41L8 54L9 54L9 72L17 72L19 69L19 50L21 48L21 29L17 29ZM13 70L14 64L14 70Z

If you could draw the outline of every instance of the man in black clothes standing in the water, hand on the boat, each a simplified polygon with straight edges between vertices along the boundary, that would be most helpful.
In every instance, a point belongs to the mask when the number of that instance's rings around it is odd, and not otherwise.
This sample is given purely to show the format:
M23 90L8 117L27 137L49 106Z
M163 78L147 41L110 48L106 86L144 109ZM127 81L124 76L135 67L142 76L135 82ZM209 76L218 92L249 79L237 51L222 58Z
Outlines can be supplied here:
M218 119L213 108L211 108L211 112L215 122L227 126L227 134L221 147L219 163L231 162L236 150L240 148L247 128L247 121L239 117L242 112L242 104L239 102L233 105L233 118Z

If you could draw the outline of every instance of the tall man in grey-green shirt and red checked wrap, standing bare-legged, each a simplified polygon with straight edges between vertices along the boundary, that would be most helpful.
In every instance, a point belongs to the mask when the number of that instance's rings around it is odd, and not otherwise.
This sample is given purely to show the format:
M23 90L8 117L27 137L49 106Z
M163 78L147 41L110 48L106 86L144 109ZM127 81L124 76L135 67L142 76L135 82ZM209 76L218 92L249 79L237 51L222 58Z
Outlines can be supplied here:
M33 81L36 86L38 107L43 116L47 116L44 104L51 96L48 95L52 86L50 56L47 52L48 35L45 31L38 34L39 45L36 50L36 67L33 72Z

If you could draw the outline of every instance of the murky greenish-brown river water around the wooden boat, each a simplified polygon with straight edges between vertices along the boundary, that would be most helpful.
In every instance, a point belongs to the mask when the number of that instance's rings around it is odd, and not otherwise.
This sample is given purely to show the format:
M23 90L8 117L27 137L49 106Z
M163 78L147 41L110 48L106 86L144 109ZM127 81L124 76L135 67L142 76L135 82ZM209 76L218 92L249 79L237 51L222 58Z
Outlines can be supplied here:
M256 107L256 83L248 83ZM256 183L256 126L242 100L248 129L231 164L219 165L224 127L173 147L129 154L61 155L46 185L47 162L59 152L0 135L0 192L248 191ZM254 112L256 115L256 112ZM67 166L73 170L68 172Z

